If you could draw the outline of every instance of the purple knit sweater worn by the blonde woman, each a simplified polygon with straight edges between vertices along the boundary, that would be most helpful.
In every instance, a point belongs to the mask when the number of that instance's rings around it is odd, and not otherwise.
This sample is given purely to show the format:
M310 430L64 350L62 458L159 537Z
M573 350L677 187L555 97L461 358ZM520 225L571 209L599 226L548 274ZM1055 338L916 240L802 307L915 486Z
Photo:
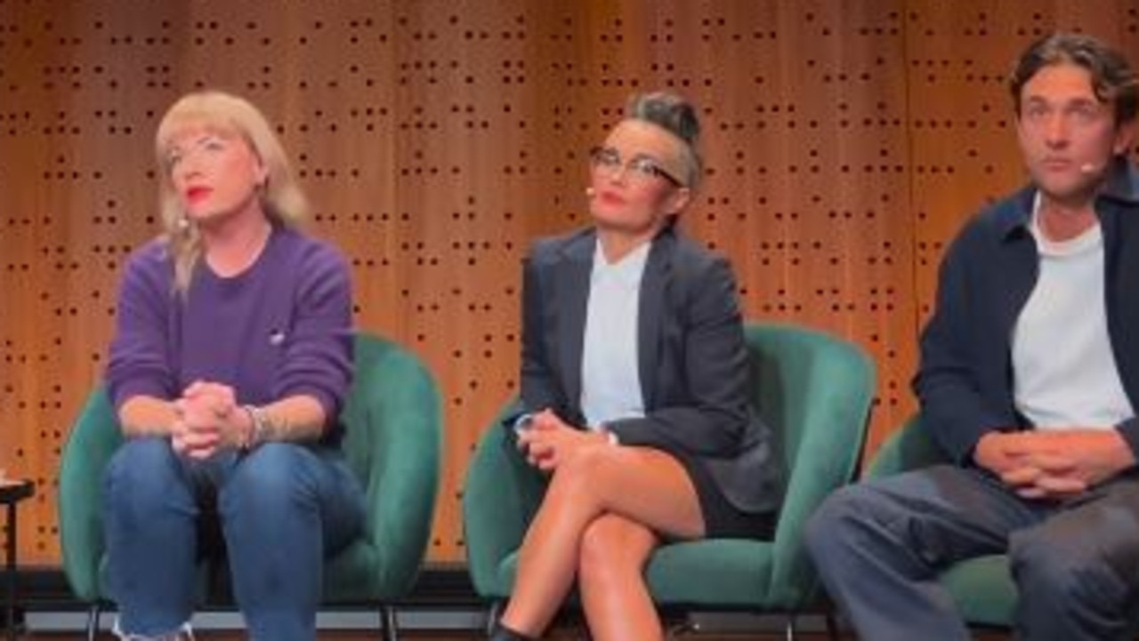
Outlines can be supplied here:
M173 278L162 240L126 263L106 376L116 409L136 395L177 398L204 379L232 386L243 404L313 396L335 425L352 378L351 283L336 249L278 227L236 277L199 261L185 299Z

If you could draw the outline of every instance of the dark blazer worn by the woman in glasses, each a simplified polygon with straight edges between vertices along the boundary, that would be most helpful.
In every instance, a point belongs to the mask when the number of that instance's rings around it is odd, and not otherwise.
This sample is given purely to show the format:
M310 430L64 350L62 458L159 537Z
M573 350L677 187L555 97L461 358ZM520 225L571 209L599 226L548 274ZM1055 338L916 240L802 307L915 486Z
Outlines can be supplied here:
M581 426L585 309L597 235L539 240L523 272L522 403ZM728 262L671 225L653 240L641 278L638 354L645 418L606 424L623 445L703 465L741 510L782 495L771 430L748 403L749 364Z

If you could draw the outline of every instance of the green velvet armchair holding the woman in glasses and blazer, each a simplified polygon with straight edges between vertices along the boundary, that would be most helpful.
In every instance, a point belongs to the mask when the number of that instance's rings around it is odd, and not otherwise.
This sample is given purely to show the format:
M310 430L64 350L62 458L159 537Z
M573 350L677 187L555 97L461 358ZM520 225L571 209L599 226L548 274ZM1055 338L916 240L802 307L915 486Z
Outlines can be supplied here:
M746 328L751 397L776 430L787 470L772 541L706 540L661 548L647 578L654 600L680 610L787 613L818 605L803 526L858 467L875 393L875 368L854 345L788 324ZM505 412L503 412L505 413ZM467 560L475 591L492 603L510 595L517 549L544 491L497 419L482 437L464 487Z

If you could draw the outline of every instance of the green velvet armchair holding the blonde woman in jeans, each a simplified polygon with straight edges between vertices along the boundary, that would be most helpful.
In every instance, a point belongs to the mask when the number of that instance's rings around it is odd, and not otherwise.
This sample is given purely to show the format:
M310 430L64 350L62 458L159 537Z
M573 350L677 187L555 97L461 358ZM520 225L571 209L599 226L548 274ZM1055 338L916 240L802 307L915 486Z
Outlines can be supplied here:
M411 590L431 534L442 447L440 396L420 361L394 343L358 334L353 361L343 447L367 493L368 516L363 535L328 560L323 598L379 605L384 636L394 640L393 602ZM90 605L89 640L109 601L101 479L121 441L109 400L96 389L64 446L58 496L64 572L75 595ZM224 601L215 587L203 581L204 601Z

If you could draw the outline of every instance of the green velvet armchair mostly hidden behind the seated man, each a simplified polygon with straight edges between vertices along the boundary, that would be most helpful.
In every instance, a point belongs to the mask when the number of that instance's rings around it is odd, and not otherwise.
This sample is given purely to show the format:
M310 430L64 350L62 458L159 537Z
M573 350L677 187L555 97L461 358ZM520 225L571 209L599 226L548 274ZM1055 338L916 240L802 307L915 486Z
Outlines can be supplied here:
M949 459L921 427L920 417L915 416L882 445L867 467L866 477L879 478L944 462ZM1016 585L1005 554L957 564L940 581L968 624L998 627L1013 624Z

